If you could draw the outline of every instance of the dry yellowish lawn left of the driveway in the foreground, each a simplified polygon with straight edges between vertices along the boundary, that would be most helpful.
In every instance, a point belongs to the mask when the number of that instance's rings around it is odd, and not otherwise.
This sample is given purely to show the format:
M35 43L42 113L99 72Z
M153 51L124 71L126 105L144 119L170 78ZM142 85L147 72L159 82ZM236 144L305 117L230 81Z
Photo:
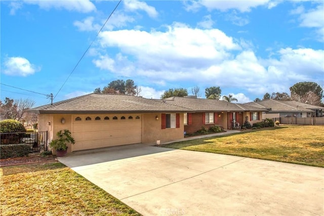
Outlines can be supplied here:
M1 215L140 215L62 163L0 168Z

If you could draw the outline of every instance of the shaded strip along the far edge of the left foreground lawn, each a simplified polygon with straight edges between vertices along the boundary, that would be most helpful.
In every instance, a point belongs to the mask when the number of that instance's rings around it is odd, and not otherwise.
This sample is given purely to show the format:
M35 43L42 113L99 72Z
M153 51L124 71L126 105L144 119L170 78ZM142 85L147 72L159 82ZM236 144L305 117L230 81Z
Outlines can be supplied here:
M24 164L24 165L4 166L0 168L0 176L22 174L24 172L53 170L53 169L60 169L65 167L66 166L60 162L45 162L42 164L32 163L32 164Z

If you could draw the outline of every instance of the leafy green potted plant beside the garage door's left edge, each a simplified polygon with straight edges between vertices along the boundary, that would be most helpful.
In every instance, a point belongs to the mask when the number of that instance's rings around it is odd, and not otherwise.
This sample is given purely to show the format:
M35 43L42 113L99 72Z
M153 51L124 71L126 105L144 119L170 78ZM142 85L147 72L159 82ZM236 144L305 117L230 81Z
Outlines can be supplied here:
M67 153L67 144L74 144L75 140L68 129L64 129L64 131L60 130L56 133L56 136L58 138L52 140L50 146L56 150L56 156L63 157Z

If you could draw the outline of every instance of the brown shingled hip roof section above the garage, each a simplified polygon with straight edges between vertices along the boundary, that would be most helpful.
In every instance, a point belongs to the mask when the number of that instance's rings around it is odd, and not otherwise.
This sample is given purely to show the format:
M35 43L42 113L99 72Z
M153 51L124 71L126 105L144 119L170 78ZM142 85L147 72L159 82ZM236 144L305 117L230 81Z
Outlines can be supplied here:
M92 93L29 109L37 113L191 112L189 108L130 95Z

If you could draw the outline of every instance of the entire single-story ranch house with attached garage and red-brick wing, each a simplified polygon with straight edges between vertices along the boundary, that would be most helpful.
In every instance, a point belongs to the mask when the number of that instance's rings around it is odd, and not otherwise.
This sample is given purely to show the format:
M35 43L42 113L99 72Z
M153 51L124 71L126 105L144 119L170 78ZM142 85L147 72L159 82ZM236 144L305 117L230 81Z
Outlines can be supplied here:
M264 109L207 99L154 100L92 93L28 111L38 114L38 131L48 131L48 140L69 129L75 139L75 144L68 146L72 152L177 140L183 138L184 131L195 132L201 126L231 129L246 118L252 124L262 121Z

